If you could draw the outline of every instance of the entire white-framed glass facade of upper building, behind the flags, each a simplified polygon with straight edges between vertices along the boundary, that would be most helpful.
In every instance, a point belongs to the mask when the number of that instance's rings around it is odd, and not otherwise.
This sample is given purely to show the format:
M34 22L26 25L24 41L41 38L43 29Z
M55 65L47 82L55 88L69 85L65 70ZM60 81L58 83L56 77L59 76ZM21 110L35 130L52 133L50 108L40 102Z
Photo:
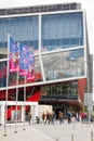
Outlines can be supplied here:
M37 14L0 18L0 59L6 59L10 33L16 42L28 46L35 53L35 80L26 84L84 76L83 12L41 13L40 17ZM8 77L9 86L15 86L17 74L10 73ZM6 87L3 60L0 81L0 88ZM25 85L24 76L18 76L18 85Z

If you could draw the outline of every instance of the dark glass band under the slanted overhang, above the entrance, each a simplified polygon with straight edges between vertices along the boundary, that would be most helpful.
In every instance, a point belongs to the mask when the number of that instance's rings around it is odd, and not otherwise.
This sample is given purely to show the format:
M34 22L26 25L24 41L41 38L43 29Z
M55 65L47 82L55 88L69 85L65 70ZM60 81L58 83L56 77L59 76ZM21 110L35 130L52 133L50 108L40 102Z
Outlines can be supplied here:
M78 100L78 82L63 82L56 85L50 85L41 87L40 89L42 93L42 102L43 101L56 101L56 100Z

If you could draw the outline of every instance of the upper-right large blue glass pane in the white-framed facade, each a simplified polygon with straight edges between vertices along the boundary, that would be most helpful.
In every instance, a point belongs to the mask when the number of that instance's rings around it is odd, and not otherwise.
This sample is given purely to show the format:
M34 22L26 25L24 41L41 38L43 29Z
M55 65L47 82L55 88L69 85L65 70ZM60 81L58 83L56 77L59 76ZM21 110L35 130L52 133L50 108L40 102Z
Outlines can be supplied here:
M42 15L42 51L83 46L82 12Z

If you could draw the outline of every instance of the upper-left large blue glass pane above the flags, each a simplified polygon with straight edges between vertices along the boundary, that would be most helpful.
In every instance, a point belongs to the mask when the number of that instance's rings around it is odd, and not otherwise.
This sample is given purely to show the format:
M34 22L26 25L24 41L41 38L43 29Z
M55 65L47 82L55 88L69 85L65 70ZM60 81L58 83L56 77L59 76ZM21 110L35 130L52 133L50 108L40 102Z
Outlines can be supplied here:
M15 41L29 46L38 52L39 20L38 16L0 18L0 53L8 47L8 33Z

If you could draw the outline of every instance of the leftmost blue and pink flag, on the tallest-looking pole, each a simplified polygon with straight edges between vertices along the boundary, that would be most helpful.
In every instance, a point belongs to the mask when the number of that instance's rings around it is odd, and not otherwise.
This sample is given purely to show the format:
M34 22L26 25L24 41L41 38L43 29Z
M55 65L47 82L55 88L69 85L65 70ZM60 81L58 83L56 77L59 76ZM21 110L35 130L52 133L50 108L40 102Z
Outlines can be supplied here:
M17 43L10 37L9 49L9 69L11 73L19 70L18 47Z

